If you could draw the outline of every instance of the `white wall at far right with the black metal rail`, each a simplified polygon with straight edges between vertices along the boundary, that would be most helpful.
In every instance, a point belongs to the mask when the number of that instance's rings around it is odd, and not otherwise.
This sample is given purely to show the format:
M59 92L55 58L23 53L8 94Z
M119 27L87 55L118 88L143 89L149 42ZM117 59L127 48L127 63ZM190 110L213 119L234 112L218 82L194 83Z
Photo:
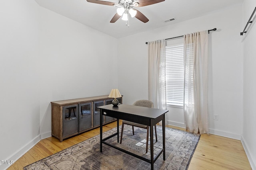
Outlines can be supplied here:
M243 24L242 31L248 22L254 8L255 0L245 0L243 4ZM255 16L255 14L254 14ZM254 20L256 21L256 20ZM251 27L245 34L246 38L242 42L244 47L244 87L243 87L243 135L242 143L253 170L256 170L256 25ZM245 35L243 37L245 37Z

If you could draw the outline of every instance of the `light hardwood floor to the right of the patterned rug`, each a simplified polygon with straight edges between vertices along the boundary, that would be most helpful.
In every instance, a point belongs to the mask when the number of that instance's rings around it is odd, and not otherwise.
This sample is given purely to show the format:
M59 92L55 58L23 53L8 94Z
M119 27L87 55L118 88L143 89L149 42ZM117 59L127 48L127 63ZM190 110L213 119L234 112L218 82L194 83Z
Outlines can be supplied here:
M188 170L251 169L241 141L211 134L201 135L188 168Z

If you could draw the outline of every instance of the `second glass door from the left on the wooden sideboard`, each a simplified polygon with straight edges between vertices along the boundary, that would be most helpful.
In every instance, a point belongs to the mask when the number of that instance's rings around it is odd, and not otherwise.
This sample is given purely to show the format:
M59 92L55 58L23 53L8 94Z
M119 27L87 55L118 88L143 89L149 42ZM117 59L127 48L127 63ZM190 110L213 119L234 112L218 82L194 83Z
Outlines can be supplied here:
M92 103L79 104L79 131L92 127Z

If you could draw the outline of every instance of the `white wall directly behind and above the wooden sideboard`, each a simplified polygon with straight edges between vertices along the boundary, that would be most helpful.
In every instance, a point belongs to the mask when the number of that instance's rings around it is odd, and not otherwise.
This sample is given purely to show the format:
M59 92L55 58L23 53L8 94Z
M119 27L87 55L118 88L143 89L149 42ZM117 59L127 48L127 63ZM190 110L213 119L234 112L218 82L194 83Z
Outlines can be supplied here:
M51 135L50 102L117 88L117 40L40 8L40 133Z

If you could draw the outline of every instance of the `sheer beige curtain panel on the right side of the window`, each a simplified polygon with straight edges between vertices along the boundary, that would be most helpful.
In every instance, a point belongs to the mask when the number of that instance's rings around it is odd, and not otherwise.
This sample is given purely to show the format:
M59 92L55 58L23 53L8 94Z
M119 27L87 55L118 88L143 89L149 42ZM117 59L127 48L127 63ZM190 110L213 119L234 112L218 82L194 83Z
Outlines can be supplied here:
M184 123L208 134L208 31L184 35Z

